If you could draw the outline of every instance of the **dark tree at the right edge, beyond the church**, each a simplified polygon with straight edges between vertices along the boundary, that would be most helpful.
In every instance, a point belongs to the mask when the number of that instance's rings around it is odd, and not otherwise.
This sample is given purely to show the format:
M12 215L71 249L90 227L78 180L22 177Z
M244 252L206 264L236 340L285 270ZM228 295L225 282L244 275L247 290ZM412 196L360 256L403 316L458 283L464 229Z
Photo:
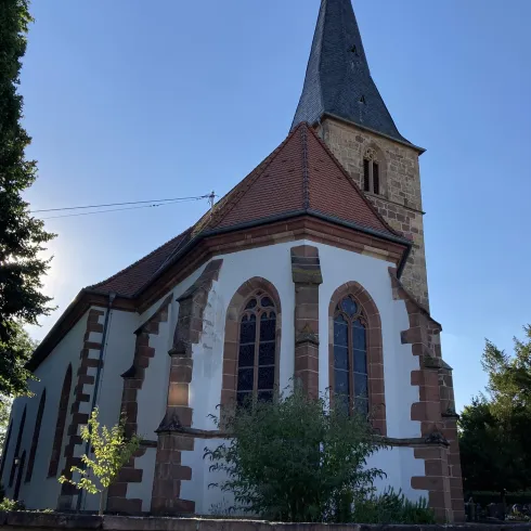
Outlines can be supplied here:
M514 355L485 342L487 396L474 399L459 419L466 491L531 487L531 327L523 329L526 339L515 338Z

